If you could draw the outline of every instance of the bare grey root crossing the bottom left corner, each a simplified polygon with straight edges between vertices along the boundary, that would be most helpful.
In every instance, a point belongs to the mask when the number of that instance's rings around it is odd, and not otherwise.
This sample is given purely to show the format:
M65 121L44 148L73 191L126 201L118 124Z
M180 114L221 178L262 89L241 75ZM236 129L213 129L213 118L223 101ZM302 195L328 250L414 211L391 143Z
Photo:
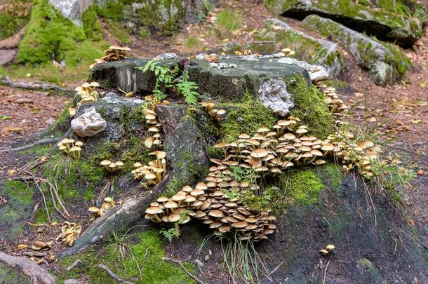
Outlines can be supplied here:
M55 278L48 271L25 257L14 257L0 252L0 262L4 262L12 268L20 269L22 273L32 278L32 283L55 284Z

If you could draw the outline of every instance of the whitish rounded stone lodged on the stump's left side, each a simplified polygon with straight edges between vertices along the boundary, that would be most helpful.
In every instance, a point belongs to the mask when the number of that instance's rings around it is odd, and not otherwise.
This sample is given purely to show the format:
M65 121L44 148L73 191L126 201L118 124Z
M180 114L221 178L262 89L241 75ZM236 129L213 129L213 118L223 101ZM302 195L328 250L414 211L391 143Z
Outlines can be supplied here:
M95 107L86 109L85 112L72 120L72 130L80 137L92 137L105 130L107 123L101 114L95 111Z

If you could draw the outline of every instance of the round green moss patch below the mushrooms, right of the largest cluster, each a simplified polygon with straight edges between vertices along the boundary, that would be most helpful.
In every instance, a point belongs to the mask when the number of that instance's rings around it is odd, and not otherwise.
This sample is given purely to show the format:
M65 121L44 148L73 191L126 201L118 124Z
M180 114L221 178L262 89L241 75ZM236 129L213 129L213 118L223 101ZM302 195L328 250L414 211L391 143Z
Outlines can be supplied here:
M296 170L281 176L281 189L300 205L319 201L323 183L313 170Z

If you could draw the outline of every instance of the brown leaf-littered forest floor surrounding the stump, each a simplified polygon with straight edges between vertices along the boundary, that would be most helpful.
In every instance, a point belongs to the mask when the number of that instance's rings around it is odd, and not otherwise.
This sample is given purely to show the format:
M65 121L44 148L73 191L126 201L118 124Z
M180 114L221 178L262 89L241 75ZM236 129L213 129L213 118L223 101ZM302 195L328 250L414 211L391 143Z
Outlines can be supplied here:
M129 45L133 55L188 54L189 48L183 42L189 36L195 36L201 42L200 46L190 50L193 54L203 46L214 49L232 40L245 44L253 39L255 30L262 29L266 18L274 16L259 1L226 2L225 6L241 13L242 28L237 32L215 34L214 24L208 20L203 25L189 25L169 38L133 39ZM297 27L294 20L286 22ZM111 35L105 36L110 42L117 43ZM397 190L403 196L409 224L419 229L420 241L428 246L428 30L412 50L403 52L412 60L415 69L392 86L376 86L352 59L345 75L337 79L347 83L347 87L339 91L345 102L352 106L350 119L363 130L379 135L386 149L384 154L399 158L404 167L417 174L412 182ZM72 89L80 83L72 82L67 87ZM0 177L6 177L28 160L18 152L1 150L34 141L36 133L53 123L71 98L0 86L0 100Z

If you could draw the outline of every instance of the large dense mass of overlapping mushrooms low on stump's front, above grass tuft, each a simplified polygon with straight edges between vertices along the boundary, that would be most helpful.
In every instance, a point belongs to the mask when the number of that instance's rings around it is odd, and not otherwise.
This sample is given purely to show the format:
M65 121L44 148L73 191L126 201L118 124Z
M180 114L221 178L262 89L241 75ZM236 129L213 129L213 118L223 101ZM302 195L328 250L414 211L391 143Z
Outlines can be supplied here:
M218 167L210 170L215 173ZM247 187L251 187L250 184L239 184L230 177L211 177L213 176L207 177L209 182L199 182L194 189L188 185L183 187L171 198L160 196L147 208L145 218L158 223L179 222L178 224L189 222L191 217L201 219L213 229L214 234L235 231L241 240L260 241L274 233L276 226L273 222L276 217L265 211L245 208L238 198L228 197L226 194L228 188L245 191Z

